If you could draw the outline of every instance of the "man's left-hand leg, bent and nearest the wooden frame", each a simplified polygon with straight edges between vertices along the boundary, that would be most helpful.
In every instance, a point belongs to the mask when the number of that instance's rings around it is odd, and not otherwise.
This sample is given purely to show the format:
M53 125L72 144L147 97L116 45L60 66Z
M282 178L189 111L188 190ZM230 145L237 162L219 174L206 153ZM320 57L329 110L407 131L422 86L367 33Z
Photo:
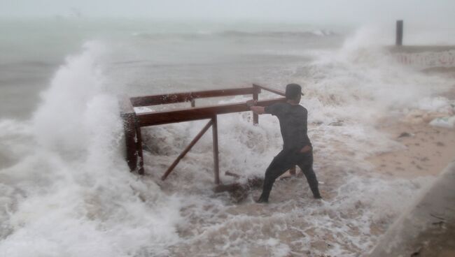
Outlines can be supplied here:
M290 158L285 152L281 151L275 156L272 163L270 163L267 170L265 170L262 194L258 199L258 203L267 203L269 201L270 191L272 190L275 180L293 165L295 165L295 163L290 162Z

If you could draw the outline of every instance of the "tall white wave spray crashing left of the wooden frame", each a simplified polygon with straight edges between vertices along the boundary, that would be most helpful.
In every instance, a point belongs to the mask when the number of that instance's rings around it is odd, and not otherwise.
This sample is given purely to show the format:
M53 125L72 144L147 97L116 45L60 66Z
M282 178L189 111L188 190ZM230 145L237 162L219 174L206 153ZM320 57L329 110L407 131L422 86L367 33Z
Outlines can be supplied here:
M16 142L30 151L1 170L1 256L147 256L178 240L179 201L123 161L104 51L87 43L59 68L33 136Z

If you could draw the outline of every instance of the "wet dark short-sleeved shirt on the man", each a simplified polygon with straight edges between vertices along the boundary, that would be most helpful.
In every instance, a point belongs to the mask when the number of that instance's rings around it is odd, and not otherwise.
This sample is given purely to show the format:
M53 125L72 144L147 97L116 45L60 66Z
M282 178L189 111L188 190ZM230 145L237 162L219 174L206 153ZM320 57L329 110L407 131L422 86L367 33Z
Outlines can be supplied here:
M302 105L274 103L265 107L265 113L278 117L283 149L297 150L305 145L311 146L307 135L308 111Z

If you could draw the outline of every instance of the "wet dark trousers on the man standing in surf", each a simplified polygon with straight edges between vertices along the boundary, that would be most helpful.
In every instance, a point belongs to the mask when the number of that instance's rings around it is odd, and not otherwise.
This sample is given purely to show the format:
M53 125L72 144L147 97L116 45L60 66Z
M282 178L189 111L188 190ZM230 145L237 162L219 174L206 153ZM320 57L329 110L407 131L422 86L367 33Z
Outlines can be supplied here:
M270 163L269 168L265 171L264 185L260 199L267 201L275 179L295 165L302 169L313 196L316 198L320 197L318 179L316 179L316 174L313 170L313 152L302 154L298 151L281 150L281 152L275 156L272 163Z

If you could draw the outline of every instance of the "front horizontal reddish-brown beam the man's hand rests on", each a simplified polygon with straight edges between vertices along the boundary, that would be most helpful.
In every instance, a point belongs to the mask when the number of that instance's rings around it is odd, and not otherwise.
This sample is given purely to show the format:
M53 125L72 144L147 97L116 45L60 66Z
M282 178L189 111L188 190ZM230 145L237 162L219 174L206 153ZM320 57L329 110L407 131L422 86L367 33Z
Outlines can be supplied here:
M267 106L272 103L285 102L286 98L274 98L258 101L259 106ZM222 115L230 112L246 112L250 108L246 102L229 103L196 108L183 108L162 112L142 112L137 114L140 126L153 126L175 122L189 122L197 119L211 119L214 115Z

